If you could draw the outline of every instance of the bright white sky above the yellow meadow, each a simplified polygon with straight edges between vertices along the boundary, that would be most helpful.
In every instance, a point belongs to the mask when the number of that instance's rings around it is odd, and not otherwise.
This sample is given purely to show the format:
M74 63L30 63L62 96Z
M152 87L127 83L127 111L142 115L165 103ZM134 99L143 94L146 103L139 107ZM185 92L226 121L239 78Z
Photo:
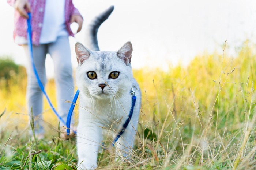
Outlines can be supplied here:
M255 0L73 0L84 18L82 31L70 37L72 66L77 66L74 46L84 43L85 28L99 13L115 9L98 31L99 48L116 51L127 41L133 44L132 67L188 64L196 55L214 51L236 56L246 39L256 42ZM10 55L26 66L23 48L13 42L14 8L0 1L0 56ZM47 75L54 75L50 56Z

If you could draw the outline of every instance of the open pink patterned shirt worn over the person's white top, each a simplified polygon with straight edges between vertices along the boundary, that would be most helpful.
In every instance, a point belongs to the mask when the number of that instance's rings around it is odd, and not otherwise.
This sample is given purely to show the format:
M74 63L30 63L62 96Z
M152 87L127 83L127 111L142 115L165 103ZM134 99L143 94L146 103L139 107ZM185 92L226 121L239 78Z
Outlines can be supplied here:
M42 24L44 21L46 0L29 0L32 15L32 43L39 45L40 35L42 31ZM7 0L8 4L14 5L15 0ZM69 20L72 15L82 15L78 9L74 7L72 0L65 0L65 25L69 35L74 36L71 31ZM20 16L19 12L15 10L14 13L14 40L16 37L27 37L27 19Z

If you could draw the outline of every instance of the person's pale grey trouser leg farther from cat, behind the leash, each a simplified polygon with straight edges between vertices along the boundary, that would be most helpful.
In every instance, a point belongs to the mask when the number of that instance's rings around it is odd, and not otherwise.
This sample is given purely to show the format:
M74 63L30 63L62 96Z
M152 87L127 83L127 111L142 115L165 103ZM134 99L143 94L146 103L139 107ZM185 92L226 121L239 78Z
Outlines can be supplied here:
M24 51L27 55L28 65L27 65L27 109L31 115L31 110L34 115L34 125L36 134L44 134L42 127L42 106L43 106L43 94L38 85L37 78L35 77L30 52L27 45L23 46ZM45 57L46 57L46 45L33 46L33 56L35 68L38 72L39 78L42 84L45 86L46 83L46 73L45 73ZM31 118L31 117L30 117ZM31 119L30 119L31 120Z

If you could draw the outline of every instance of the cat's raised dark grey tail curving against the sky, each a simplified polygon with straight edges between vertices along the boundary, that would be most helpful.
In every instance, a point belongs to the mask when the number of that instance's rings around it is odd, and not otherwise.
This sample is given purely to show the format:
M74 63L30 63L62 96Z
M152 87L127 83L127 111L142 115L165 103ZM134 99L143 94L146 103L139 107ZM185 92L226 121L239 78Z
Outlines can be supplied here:
M106 11L95 17L89 24L86 30L86 46L93 51L99 51L99 44L97 39L97 33L99 26L108 19L109 15L114 10L114 6L110 6Z

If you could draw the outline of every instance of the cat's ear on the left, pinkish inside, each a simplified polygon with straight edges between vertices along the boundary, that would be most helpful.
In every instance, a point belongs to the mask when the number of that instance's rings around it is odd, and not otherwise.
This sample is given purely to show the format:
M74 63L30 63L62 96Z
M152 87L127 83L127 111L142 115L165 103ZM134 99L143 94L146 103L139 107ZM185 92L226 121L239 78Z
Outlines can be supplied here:
M78 64L82 64L84 60L87 60L91 53L86 47L83 46L81 43L76 43L75 45L75 52L76 52L76 59Z

